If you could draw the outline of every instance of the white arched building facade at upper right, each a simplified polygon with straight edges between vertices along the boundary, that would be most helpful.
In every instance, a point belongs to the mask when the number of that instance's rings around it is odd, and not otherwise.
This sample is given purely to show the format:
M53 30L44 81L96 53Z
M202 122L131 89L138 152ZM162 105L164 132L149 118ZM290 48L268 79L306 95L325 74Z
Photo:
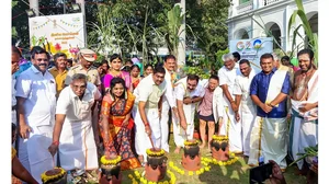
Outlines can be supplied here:
M287 35L288 32L288 21L294 12L296 10L296 4L294 0L282 0L277 3L261 7L262 0L251 0L253 2L253 10L237 14L235 12L237 10L237 7L239 5L238 0L234 0L234 5L230 8L230 10L234 10L230 12L229 18L227 20L228 24L228 39L237 39L240 38L237 34L239 30L245 28L249 32L249 37L260 37L264 36L265 33L263 28L256 23L258 21L262 26L265 26L266 30L271 27L274 23L276 23L281 30L281 46L285 50L292 49L292 36ZM304 0L304 9L305 12L310 19L315 13L318 12L318 1L317 0ZM256 21L253 21L251 18L253 18ZM297 19L297 24L299 23L299 19ZM300 28L299 34L302 36L305 36L303 28ZM302 38L297 41L298 43L303 42Z

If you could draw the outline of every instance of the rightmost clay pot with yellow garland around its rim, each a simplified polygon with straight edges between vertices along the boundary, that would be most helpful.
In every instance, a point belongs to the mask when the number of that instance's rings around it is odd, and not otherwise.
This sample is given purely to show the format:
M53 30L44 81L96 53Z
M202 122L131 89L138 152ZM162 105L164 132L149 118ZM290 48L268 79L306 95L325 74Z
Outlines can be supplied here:
M229 159L228 138L226 136L213 136L212 156L218 161L227 161Z

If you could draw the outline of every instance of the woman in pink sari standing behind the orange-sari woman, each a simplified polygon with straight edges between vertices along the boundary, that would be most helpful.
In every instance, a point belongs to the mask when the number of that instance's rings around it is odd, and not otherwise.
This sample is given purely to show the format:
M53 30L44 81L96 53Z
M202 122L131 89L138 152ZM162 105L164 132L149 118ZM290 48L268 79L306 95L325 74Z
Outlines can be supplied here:
M111 65L110 67L111 69L104 76L104 81L103 81L104 90L107 91L110 89L110 83L113 78L122 78L125 81L125 88L127 88L129 91L133 91L131 74L126 71L121 71L123 62L120 55L117 54L112 55L110 58L110 65Z

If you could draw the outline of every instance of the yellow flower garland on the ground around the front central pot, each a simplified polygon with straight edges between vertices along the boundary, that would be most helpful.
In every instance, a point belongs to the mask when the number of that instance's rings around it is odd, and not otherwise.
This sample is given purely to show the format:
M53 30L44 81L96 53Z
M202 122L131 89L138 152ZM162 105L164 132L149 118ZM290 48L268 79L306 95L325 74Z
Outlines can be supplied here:
M133 174L128 174L128 177L132 180L133 184L138 184L138 181L143 184L175 184L177 177L174 173L171 172L170 170L167 170L167 173L170 175L170 180L164 180L159 182L148 181L146 177L141 176L138 171L134 172L136 177L134 177Z

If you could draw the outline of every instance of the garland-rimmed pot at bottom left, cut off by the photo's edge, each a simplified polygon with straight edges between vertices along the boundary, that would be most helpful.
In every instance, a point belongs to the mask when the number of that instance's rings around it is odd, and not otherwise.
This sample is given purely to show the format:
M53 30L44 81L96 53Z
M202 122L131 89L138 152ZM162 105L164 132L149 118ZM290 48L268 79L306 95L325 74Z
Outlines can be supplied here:
M55 168L42 174L43 184L66 184L67 172L61 168Z

